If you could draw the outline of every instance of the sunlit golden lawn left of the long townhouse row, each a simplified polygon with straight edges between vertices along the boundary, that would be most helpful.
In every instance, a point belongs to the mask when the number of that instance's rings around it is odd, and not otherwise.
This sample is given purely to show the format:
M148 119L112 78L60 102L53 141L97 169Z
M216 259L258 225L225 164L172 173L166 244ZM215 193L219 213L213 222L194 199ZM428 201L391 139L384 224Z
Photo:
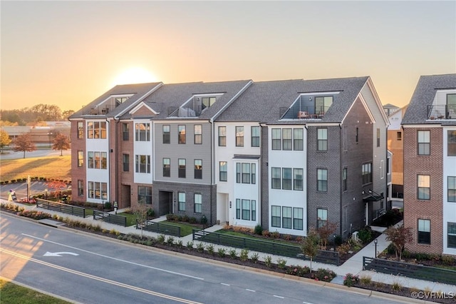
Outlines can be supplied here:
M0 159L1 181L38 177L71 181L71 156Z

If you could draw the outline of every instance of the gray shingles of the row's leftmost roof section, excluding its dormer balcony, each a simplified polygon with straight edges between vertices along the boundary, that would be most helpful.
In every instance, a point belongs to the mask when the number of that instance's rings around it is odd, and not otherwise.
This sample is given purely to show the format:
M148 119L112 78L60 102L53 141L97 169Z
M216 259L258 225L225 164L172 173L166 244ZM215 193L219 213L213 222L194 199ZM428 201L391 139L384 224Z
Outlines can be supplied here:
M109 96L112 95L121 95L121 94L131 94L133 93L134 95L128 98L128 102L125 102L118 106L117 108L112 109L109 111L108 114L106 114L105 117L113 117L116 116L118 113L122 112L125 108L128 106L131 106L135 101L138 101L139 98L145 95L145 93L149 92L152 90L152 88L155 88L158 86L160 82L155 82L155 83L136 83L136 84L123 84L123 85L118 85L113 88L111 88L109 91L101 95L100 97L96 98L94 101L88 103L88 105L83 106L83 108L79 111L76 111L71 115L69 118L81 118L83 116L83 111L87 112L88 109L94 108L98 103L101 101L104 101L105 99L109 98Z

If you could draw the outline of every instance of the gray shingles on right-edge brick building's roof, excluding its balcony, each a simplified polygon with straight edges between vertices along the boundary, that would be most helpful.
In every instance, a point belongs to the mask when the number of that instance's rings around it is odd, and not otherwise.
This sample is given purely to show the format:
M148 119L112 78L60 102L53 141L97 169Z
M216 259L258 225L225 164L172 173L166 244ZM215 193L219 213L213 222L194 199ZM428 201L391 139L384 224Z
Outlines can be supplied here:
M456 121L427 121L427 106L432 105L437 89L456 88L456 74L421 76L413 92L407 111L402 118L402 124L442 124L456 125Z

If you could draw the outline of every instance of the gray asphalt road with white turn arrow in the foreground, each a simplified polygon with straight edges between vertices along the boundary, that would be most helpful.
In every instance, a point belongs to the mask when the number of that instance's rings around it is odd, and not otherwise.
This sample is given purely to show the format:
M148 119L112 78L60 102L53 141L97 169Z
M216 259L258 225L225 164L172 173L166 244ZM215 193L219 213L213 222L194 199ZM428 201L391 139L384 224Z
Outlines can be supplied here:
M3 277L79 303L385 303L5 213L0 253Z

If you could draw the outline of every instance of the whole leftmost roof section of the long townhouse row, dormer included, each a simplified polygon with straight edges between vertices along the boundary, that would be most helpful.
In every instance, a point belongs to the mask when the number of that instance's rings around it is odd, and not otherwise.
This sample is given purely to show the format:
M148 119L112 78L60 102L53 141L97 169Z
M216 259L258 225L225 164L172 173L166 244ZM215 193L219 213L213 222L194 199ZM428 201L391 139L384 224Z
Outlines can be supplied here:
M68 119L108 118L121 115L161 85L162 83L157 82L115 86L88 105L83 106L81 110L73 113ZM118 98L117 101L116 98Z

